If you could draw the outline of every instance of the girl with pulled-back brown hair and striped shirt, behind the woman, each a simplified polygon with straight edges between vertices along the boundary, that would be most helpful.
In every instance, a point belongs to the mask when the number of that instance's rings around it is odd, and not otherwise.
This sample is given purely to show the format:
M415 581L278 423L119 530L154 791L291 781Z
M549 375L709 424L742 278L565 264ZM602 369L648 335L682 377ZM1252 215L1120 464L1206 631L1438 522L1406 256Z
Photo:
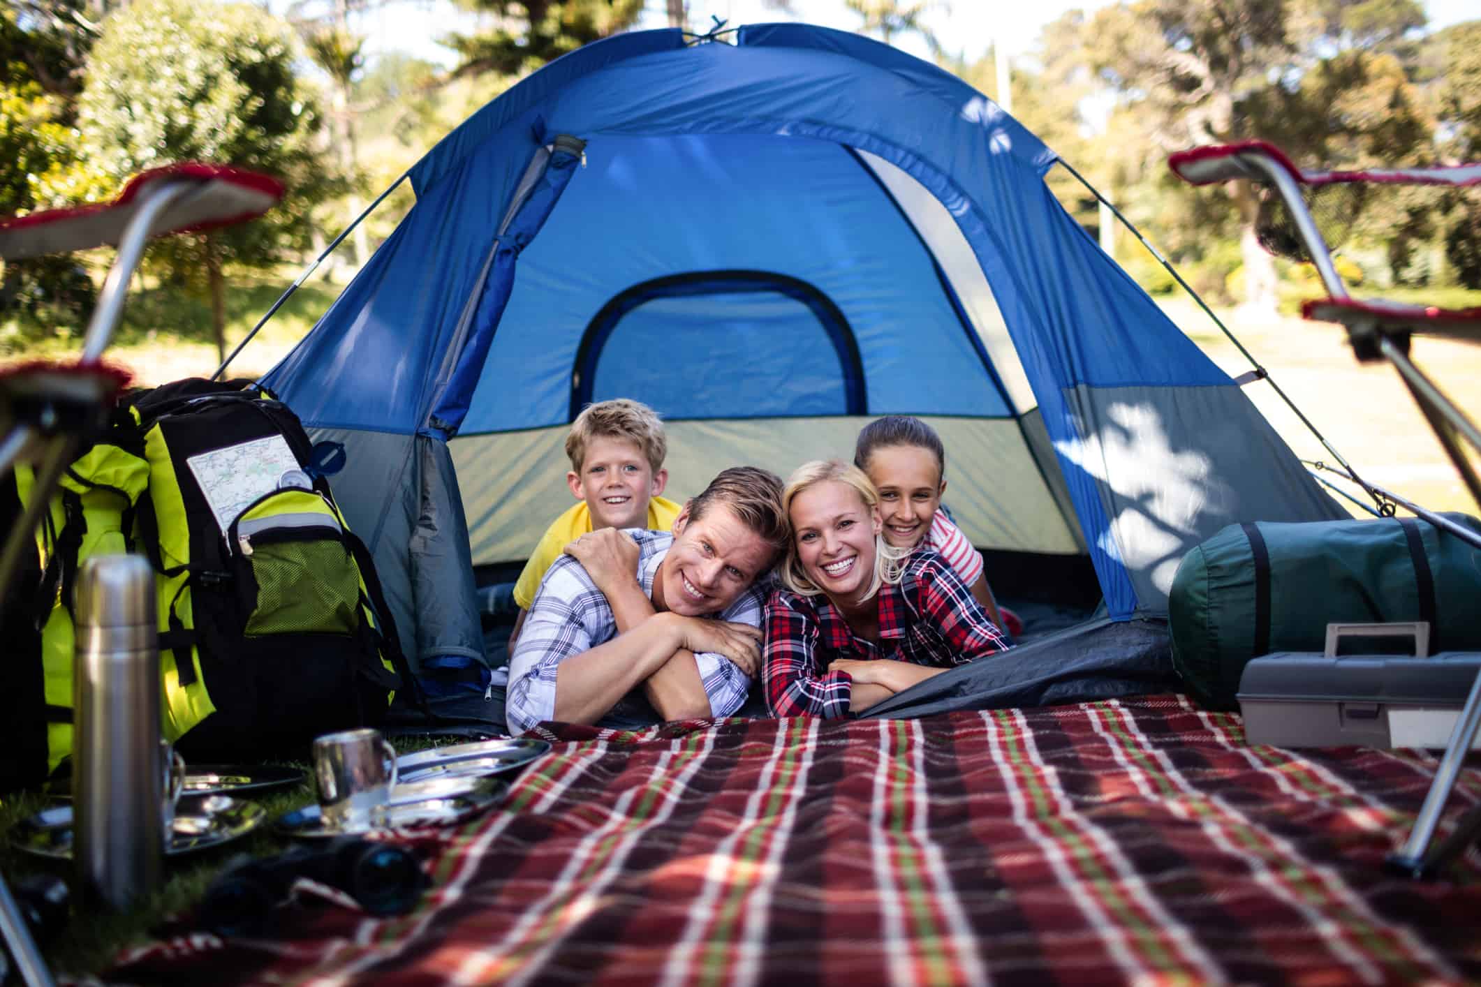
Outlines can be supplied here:
M946 493L946 450L932 426L905 414L869 422L855 442L853 465L880 491L889 545L905 550L936 549L972 587L992 623L1014 636L1023 633L1017 614L1000 610L992 598L982 573L982 553L940 509L940 496Z

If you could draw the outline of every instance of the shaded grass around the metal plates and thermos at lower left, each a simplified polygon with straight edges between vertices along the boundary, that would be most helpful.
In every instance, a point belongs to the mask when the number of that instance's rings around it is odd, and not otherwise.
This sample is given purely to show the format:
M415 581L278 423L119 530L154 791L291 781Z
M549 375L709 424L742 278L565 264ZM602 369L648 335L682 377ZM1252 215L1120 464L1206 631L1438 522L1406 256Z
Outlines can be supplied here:
M406 738L392 737L391 743L400 752L425 750L444 743L465 743L467 738ZM290 790L270 793L258 799L264 809L264 823L238 841L195 854L169 857L163 886L141 898L127 912L108 912L96 907L81 907L73 886L73 912L67 926L47 943L40 944L47 966L53 975L86 977L107 969L117 954L129 947L142 946L156 938L153 931L169 925L175 917L188 917L200 903L210 882L225 867L243 857L270 857L287 849L293 841L280 835L273 823L292 809L314 801L314 789L307 780L310 767L293 764L305 771L305 783ZM18 852L4 838L10 827L50 804L49 796L39 792L19 792L0 801L0 873L10 883L30 875L50 873L71 883L70 861L47 860ZM9 981L7 981L9 983Z

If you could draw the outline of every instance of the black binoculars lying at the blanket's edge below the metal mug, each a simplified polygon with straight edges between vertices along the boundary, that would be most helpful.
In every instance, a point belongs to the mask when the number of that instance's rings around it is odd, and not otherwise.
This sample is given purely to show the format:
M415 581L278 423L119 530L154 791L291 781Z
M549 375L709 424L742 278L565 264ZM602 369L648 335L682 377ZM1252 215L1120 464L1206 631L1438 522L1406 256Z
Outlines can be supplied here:
M416 855L392 843L338 836L265 860L243 860L212 880L200 925L218 935L247 935L267 925L299 877L344 891L375 916L406 914L429 883Z

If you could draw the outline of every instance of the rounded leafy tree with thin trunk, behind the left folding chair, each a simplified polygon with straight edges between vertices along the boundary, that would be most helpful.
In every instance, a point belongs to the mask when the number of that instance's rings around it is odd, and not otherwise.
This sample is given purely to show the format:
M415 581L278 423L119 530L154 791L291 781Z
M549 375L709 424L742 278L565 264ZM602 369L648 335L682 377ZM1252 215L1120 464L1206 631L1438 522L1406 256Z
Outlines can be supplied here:
M225 265L265 268L302 247L311 207L338 191L314 149L318 112L295 75L296 58L283 21L243 3L193 0L136 0L104 22L92 52L78 127L116 186L190 160L265 172L287 186L284 203L256 222L151 247L178 280L204 278L222 354Z

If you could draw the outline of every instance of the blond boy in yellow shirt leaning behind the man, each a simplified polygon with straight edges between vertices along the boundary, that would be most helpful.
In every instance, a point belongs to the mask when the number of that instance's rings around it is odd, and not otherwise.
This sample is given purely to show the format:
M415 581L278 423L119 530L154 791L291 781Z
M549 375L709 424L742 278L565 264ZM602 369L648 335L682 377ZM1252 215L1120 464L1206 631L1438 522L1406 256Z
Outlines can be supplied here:
M541 580L567 545L601 528L668 531L672 527L680 505L659 496L668 484L666 454L663 423L638 401L588 404L570 423L566 484L579 503L551 522L514 583L520 616L509 633L511 656Z

